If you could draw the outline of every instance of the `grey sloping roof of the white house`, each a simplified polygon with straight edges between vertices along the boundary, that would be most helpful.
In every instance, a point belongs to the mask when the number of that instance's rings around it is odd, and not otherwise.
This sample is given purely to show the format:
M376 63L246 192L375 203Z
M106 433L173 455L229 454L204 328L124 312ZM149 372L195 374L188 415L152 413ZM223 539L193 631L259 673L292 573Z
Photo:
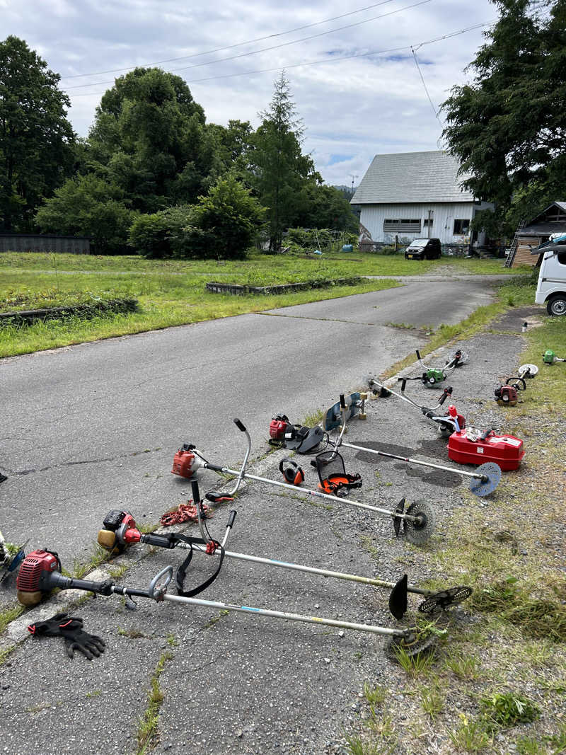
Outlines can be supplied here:
M457 159L443 149L376 155L351 199L352 205L395 202L473 202L460 189Z

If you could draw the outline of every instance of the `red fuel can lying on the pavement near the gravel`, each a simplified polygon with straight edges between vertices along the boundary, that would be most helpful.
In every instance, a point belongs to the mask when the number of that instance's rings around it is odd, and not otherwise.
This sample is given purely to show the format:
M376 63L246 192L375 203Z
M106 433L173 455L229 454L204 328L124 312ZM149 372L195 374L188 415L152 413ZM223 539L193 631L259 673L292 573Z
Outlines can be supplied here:
M459 464L484 464L493 461L503 472L518 469L524 457L523 442L512 435L496 435L493 430L481 433L466 427L448 439L448 458Z

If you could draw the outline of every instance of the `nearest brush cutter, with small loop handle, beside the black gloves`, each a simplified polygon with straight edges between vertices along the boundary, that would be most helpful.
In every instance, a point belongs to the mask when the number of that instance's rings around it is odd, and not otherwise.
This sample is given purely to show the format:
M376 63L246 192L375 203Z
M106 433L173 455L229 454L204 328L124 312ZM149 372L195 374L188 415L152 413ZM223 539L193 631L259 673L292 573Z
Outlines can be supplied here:
M281 618L286 621L301 621L307 624L322 624L327 627L339 627L340 629L352 629L359 632L368 632L389 636L395 648L404 650L407 655L417 655L435 643L435 636L438 629L433 626L435 621L444 617L443 612L432 614L432 621L429 627L420 630L418 627L408 629L390 629L389 627L379 627L372 624L355 624L351 621L340 621L331 618L322 618L319 616L307 616L302 614L290 613L286 611L272 611L269 609L259 609L252 606L237 606L232 603L224 603L216 600L203 600L201 598L192 598L181 595L168 595L167 588L173 578L173 567L166 566L161 572L152 578L147 590L139 590L134 587L123 587L115 584L112 579L95 582L85 579L75 579L72 577L63 577L60 573L61 562L57 553L47 550L34 550L23 559L20 565L20 572L17 576L17 597L23 606L36 606L42 600L42 597L55 587L60 590L86 590L90 593L99 595L122 595L127 598L140 597L149 598L156 602L164 600L176 603L184 603L189 606L204 606L207 609L216 609L223 611L234 611L254 616L269 616L271 618ZM448 592L448 591L447 591ZM452 598L449 598L454 602ZM442 601L435 601L442 608ZM430 626L432 624L432 627Z

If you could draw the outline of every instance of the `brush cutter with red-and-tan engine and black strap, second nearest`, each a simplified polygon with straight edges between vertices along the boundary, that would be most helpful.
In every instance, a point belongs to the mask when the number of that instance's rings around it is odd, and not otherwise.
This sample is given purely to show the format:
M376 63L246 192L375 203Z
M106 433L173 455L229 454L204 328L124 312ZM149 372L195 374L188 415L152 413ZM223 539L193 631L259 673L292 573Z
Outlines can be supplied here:
M198 501L198 485L195 481L192 482L192 495L195 501ZM177 532L171 532L168 533L168 535L153 534L150 537L143 535L136 528L136 522L128 511L109 512L104 519L105 528L108 526L109 519L112 521L112 526L114 526L115 529L101 529L98 533L98 543L111 552L122 553L128 548L128 546L134 543L148 543L163 548L192 548L201 551L201 553L208 553L209 555L218 553L216 548L209 547L210 543L214 543L214 541L209 541L209 544L205 546L204 544L195 542L196 538L192 538L192 541L187 543L186 537ZM346 581L368 584L371 585L371 587L389 589L391 590L389 595L389 610L398 620L401 619L407 611L408 593L416 593L417 595L426 596L426 600L421 603L423 609L419 608L419 610L421 613L428 614L435 613L438 610L445 610L448 606L454 606L472 594L472 589L470 587L451 587L450 589L442 590L439 593L434 593L432 590L423 590L420 587L408 584L407 575L404 575L395 583L369 577L358 577L357 575L344 574L343 572L331 572L329 569L318 569L316 567L304 566L287 561L260 558L260 556L251 556L249 553L234 553L231 550L226 550L224 555L226 558L238 559L240 561L275 566L280 569L290 569L294 572L306 572L307 574L319 575L321 577L343 579Z

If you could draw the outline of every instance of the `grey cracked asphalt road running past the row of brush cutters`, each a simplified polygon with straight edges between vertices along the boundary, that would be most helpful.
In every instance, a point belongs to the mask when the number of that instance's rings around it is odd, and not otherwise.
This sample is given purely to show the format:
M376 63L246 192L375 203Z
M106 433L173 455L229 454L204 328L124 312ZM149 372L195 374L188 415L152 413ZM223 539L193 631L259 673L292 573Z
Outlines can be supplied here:
M84 560L104 514L142 523L189 497L170 474L194 442L238 464L244 438L266 450L270 418L324 408L423 344L392 328L454 323L493 297L493 276L410 280L402 288L270 310L0 360L2 531L27 550Z

